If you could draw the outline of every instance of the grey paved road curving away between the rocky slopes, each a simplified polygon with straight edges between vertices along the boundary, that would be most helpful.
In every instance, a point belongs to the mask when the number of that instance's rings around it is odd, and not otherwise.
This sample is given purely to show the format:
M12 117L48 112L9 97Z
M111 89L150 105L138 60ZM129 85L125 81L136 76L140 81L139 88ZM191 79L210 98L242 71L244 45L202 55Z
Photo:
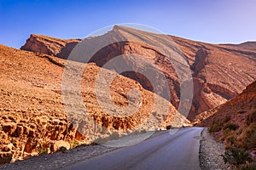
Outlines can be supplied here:
M173 134L166 131L140 144L114 150L67 169L200 170L199 146L202 129L181 128Z

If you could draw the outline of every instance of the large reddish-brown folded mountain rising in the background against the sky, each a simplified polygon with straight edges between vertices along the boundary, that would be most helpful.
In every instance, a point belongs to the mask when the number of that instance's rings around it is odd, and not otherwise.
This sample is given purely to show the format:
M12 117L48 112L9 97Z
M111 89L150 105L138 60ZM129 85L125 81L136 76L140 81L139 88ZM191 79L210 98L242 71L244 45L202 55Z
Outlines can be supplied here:
M43 36L34 35L30 37L21 49L40 53L45 51L45 54L52 54L64 59L67 59L67 54L72 51L72 48L66 48L66 46L58 46L56 48L56 42L51 41L51 37L44 37L47 44L42 44L42 48L46 47L47 50L42 51L41 48L29 45L30 42L36 44L41 44L42 42L38 40L41 38L33 37ZM57 41L56 38L55 41ZM65 42L66 40L59 39L58 41ZM78 41L73 40L73 43ZM164 89L164 91L170 91L172 105L176 108L178 108L181 99L180 90L185 85L181 84L179 80L176 71L177 67L172 65L172 61L167 58L175 60L172 57L172 52L179 53L185 57L188 60L194 82L194 98L189 111L189 120L193 120L198 113L224 104L227 100L240 94L248 84L256 79L255 42L245 42L238 45L210 44L195 42L181 37L138 31L125 26L114 26L112 31L108 31L102 36L88 37L82 43L90 48L97 48L106 41L113 43L96 51L96 54L90 58L90 62L102 66L110 59L122 54L140 55L140 58L122 56L122 59L126 66L136 68L139 71L154 72L159 69L166 76L170 87L169 89ZM58 53L50 52L52 48L55 48L54 51ZM171 48L170 55L166 56L163 53L166 48ZM59 53L61 50L65 50L66 53ZM148 68L145 65L153 66ZM148 79L141 74L130 71L122 75L140 82L143 88L154 92ZM161 88L160 86L158 88ZM168 99L165 93L160 95Z

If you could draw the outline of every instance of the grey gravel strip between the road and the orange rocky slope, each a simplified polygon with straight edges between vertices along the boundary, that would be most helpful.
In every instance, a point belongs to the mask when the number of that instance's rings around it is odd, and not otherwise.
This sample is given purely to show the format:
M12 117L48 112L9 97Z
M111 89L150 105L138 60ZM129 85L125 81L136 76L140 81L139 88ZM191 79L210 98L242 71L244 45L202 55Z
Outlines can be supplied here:
M0 165L0 169L61 169L63 167L67 167L68 165L75 164L79 161L84 161L91 157L99 156L117 149L119 148L110 148L100 144L84 146L82 145L73 150L67 150L65 152L57 152L44 156L34 156L23 161L15 161L13 163Z

